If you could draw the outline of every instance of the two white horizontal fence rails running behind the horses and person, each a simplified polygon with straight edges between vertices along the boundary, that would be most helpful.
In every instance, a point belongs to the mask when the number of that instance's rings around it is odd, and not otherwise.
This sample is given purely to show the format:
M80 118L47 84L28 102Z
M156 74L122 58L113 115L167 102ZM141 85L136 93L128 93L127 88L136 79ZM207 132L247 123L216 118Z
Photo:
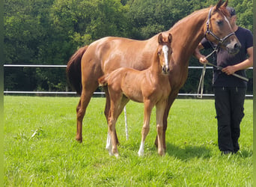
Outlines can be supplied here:
M67 67L67 65L32 65L32 64L4 64L4 67ZM203 69L204 67L189 67L189 69ZM206 67L213 69L213 67ZM250 70L253 68L250 67ZM4 94L76 94L76 92L69 91L4 91ZM103 95L105 92L94 92L96 95ZM178 93L178 96L198 96L198 93ZM214 94L203 93L203 96L214 96ZM253 97L253 95L246 94L246 97Z

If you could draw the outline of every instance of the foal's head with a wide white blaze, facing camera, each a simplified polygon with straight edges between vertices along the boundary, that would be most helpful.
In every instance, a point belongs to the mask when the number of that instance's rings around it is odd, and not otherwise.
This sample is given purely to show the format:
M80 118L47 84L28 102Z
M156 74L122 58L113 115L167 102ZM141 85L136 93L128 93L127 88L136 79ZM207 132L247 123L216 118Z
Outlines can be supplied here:
M163 36L162 33L158 35L159 46L157 47L157 55L159 58L159 64L162 67L162 73L164 74L167 74L170 71L169 63L172 53L171 40L171 33L166 36Z

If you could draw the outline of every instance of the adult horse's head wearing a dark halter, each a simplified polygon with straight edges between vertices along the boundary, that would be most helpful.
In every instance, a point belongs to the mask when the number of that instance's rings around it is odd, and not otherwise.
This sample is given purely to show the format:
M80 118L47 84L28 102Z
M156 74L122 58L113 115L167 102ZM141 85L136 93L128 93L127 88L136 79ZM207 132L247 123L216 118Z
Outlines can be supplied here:
M241 48L241 43L231 28L231 15L226 9L227 5L228 0L224 4L220 0L215 7L210 8L207 23L204 27L205 37L227 49L228 53L236 54Z

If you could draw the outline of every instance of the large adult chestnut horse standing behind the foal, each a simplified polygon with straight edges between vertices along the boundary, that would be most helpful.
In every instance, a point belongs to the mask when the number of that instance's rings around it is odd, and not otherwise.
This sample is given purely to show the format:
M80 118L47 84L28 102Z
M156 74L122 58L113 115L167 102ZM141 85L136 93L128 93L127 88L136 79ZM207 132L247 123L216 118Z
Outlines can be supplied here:
M180 88L186 82L189 58L194 53L198 43L207 37L213 43L227 49L229 53L240 50L240 42L235 36L229 23L230 14L226 7L228 1L222 0L214 7L195 11L177 22L170 30L173 40L171 48L171 69L169 82L171 93L163 118L163 144L165 145L165 131L167 117L174 99ZM104 74L111 73L119 67L131 67L135 70L145 70L150 67L150 59L157 47L157 36L148 40L130 40L123 37L104 37L79 49L67 63L67 76L70 84L81 95L76 108L76 140L82 142L82 120L90 102L91 96L98 88L98 79ZM106 91L106 119L109 115L109 93ZM117 142L118 138L116 136ZM157 146L157 138L155 141Z

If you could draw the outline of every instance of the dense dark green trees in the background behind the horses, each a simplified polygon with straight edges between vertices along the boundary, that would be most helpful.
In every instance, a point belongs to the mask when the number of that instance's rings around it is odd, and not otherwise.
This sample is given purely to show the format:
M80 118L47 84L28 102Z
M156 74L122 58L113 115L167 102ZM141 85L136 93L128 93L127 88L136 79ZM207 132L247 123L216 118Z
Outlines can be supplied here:
M216 0L4 1L4 64L67 64L79 47L101 37L145 40L211 4ZM229 5L237 10L238 25L252 31L252 0L232 0ZM192 58L190 64L198 66L198 61ZM4 69L5 90L24 91L27 85L31 91L49 91L67 85L63 70L17 70L21 69ZM188 79L183 92L197 86L192 79Z

